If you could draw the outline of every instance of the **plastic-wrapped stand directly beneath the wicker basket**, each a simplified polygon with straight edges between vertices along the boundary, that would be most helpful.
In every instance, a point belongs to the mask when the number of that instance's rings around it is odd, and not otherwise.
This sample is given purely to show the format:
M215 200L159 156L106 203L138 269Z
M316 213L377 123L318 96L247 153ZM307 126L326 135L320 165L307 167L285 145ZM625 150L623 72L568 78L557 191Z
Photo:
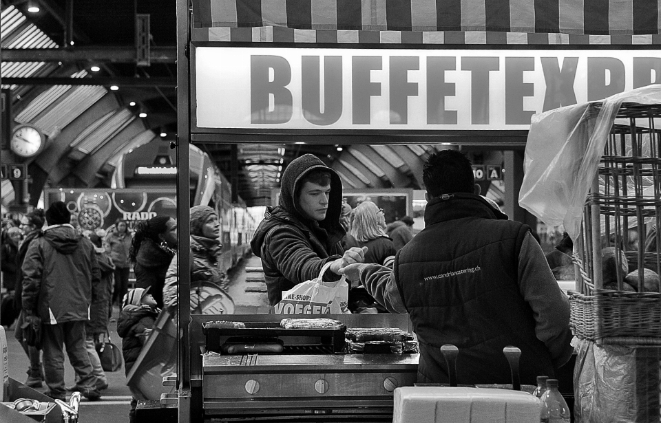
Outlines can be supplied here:
M574 341L577 423L659 422L659 348Z

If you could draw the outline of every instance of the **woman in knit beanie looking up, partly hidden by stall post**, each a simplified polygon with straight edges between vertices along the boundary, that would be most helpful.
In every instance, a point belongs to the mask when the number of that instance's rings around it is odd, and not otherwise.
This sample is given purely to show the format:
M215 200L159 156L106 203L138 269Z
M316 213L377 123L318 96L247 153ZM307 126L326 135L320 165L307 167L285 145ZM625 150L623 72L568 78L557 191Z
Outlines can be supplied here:
M211 282L220 290L227 288L227 278L218 269L218 258L222 244L220 243L220 221L216 210L209 206L194 206L191 208L191 288L200 286L202 282ZM163 303L171 313L177 308L178 259L172 259L165 276L163 288ZM227 294L227 293L226 293ZM194 294L191 293L194 296ZM199 300L199 299L198 299ZM233 305L233 301L229 298ZM191 301L193 303L193 301ZM197 301L200 303L200 301ZM195 314L204 314L197 307L191 310ZM229 312L229 310L224 310Z

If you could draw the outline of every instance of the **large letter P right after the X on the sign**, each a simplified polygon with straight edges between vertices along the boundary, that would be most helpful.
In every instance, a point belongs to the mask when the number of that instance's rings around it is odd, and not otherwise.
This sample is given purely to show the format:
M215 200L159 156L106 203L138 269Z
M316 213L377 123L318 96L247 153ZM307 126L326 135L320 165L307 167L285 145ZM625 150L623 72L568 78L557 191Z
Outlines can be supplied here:
M610 82L606 79L607 73ZM613 57L587 58L587 100L603 100L625 91L625 65Z

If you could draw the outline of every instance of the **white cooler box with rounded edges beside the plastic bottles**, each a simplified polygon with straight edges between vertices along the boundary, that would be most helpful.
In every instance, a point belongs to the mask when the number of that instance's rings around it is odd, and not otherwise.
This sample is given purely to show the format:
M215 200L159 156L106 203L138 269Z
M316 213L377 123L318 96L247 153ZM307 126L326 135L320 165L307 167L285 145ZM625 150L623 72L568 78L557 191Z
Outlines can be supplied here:
M523 391L462 387L395 389L393 423L536 423L538 398Z

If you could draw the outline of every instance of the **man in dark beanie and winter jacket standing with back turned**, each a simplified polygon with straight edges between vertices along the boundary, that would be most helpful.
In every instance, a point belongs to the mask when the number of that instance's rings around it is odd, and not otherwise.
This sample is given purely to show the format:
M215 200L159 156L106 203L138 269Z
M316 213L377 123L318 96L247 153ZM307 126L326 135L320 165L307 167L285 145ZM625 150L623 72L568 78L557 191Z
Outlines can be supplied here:
M93 290L100 272L94 246L70 225L63 202L46 210L43 237L34 239L23 261L23 311L26 320L41 320L45 382L52 398L65 398L64 354L76 371L76 390L97 400L97 380L85 350L85 321L90 318ZM94 297L96 297L94 292Z

